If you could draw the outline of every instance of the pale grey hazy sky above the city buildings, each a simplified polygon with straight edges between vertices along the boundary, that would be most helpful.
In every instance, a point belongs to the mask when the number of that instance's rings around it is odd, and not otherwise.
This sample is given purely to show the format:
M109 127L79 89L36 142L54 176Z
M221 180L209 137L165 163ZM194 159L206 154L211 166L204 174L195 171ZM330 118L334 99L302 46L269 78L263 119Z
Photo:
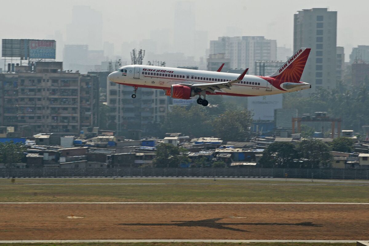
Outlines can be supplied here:
M238 36L265 36L277 46L293 46L293 14L304 8L338 11L337 45L346 58L356 45L369 45L368 0L198 0L197 30L209 40L239 29ZM12 0L1 1L0 38L48 38L60 31L65 39L74 5L89 5L103 15L103 41L115 44L149 38L150 30L173 28L173 0ZM139 48L139 47L137 47Z

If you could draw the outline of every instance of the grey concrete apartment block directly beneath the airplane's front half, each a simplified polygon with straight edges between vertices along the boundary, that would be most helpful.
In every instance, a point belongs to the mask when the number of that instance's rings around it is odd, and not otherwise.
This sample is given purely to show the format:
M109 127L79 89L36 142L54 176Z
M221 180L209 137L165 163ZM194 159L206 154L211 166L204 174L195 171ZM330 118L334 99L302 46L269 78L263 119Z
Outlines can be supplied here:
M137 97L132 98L133 90L130 86L107 83L107 104L111 109L108 125L118 134L128 129L156 128L168 111L170 98L164 90L138 88Z

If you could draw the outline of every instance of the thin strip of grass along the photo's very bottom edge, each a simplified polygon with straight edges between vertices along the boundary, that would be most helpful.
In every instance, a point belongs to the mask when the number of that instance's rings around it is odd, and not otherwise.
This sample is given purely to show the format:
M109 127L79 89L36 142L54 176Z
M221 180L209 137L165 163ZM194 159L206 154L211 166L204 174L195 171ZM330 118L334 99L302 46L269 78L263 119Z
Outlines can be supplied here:
M0 246L355 246L356 243L0 243Z

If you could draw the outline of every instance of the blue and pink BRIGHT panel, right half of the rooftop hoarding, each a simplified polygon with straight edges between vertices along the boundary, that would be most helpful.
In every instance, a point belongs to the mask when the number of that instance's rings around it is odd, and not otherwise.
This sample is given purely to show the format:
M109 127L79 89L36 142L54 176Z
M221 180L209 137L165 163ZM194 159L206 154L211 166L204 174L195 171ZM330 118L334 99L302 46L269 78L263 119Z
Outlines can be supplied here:
M29 39L29 58L55 59L55 40Z

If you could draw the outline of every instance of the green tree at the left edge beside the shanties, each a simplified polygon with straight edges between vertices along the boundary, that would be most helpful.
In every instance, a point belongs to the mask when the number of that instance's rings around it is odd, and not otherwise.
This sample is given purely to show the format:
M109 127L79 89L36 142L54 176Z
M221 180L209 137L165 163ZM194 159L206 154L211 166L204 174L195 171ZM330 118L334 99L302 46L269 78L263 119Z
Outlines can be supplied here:
M0 143L0 163L4 163L7 168L14 167L15 163L21 162L26 149L23 144L13 141Z

